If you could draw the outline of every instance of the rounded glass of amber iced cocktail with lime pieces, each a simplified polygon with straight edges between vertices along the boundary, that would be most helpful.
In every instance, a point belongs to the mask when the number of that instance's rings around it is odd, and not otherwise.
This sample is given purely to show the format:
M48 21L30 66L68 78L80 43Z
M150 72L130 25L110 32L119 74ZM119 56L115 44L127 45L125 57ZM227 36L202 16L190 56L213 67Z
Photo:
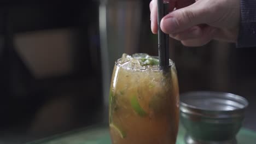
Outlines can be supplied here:
M178 122L179 88L174 63L170 60L165 68L131 67L118 59L109 94L112 143L175 144Z

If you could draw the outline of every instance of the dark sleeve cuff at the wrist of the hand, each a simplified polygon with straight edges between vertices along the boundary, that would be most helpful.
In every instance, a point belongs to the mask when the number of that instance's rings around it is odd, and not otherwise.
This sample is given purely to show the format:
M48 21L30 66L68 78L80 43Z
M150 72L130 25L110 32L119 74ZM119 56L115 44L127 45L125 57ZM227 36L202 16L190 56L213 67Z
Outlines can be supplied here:
M254 46L256 46L256 0L241 0L241 21L237 47Z

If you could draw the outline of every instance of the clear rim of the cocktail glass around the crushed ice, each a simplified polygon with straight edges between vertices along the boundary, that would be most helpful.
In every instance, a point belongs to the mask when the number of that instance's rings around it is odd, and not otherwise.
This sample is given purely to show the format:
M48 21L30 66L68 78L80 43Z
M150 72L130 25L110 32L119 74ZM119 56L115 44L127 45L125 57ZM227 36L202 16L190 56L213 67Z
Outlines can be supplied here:
M155 59L158 59L159 60L159 57L158 56L151 56ZM159 65L146 65L146 66L141 66L141 67L137 67L137 68L134 68L134 67L128 67L128 66L124 66L124 64L120 64L119 62L121 61L121 58L118 58L117 61L115 61L115 65L117 65L118 67L121 67L121 68L124 68L124 69L127 69L127 70L148 70L148 69L152 69L152 70L160 70L162 68L166 68L166 67L172 67L175 63L172 61L172 59L169 59L169 65L165 65L165 66L162 66L160 67Z

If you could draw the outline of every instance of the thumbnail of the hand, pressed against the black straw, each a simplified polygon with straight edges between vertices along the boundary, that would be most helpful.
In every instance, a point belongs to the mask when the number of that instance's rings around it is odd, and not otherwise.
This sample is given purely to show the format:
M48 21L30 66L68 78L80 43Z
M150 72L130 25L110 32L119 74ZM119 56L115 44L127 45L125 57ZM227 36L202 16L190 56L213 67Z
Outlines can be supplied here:
M173 33L176 31L176 29L178 28L177 25L177 20L175 17L168 17L167 19L164 19L163 21L163 26L164 29L168 32L168 33Z

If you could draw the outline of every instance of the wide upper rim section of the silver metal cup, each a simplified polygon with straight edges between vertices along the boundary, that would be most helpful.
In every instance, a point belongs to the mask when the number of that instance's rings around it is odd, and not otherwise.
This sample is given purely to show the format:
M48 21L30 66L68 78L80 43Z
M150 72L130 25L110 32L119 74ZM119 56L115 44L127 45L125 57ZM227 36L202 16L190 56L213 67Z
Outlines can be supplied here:
M241 117L248 106L239 95L207 91L181 94L180 103L181 112L208 118Z

